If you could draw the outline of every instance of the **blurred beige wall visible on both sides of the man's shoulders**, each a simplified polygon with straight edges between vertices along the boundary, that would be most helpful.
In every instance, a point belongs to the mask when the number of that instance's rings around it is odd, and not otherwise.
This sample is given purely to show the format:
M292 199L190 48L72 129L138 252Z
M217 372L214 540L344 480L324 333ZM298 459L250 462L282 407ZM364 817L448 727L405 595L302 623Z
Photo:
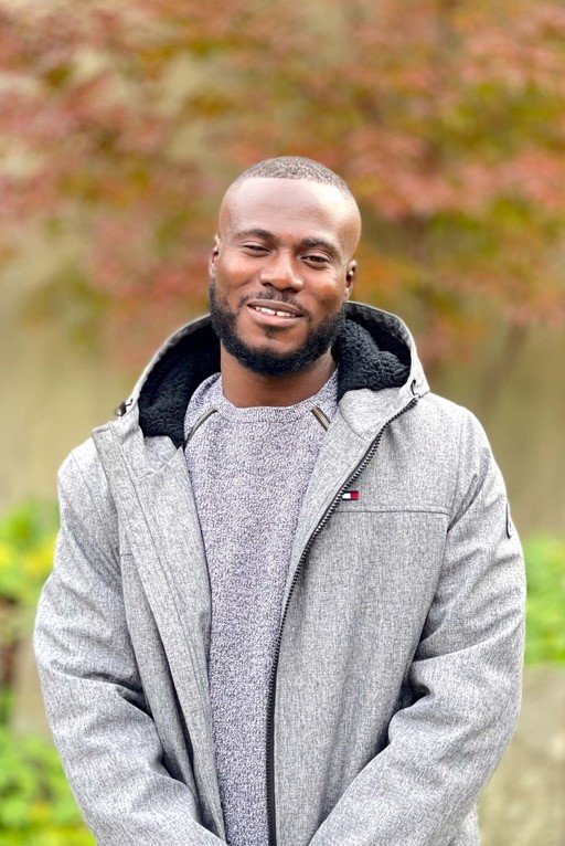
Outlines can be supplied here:
M565 332L530 330L510 346L503 329L492 338L477 362L435 374L431 385L481 419L519 529L564 533ZM75 349L55 325L22 329L10 308L0 313L0 351L3 508L54 495L66 453L111 417L135 374Z

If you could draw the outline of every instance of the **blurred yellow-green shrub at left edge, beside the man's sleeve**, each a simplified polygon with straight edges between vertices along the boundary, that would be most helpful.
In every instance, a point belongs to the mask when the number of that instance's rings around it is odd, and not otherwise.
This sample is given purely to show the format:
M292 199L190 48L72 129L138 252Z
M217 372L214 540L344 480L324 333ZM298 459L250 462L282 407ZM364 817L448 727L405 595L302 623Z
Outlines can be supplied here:
M0 846L94 846L58 755L46 740L13 737L9 668L29 633L53 564L57 509L25 503L0 520ZM2 725L3 723L3 725Z

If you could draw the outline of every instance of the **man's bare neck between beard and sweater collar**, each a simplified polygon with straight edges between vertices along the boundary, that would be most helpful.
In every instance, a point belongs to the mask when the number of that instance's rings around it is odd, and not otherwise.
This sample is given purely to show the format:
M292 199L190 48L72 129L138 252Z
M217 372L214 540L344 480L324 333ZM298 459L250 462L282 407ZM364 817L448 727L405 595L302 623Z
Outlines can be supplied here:
M222 347L220 369L226 400L238 409L247 409L255 405L296 405L313 396L335 370L335 362L328 350L299 373L263 376L247 370Z

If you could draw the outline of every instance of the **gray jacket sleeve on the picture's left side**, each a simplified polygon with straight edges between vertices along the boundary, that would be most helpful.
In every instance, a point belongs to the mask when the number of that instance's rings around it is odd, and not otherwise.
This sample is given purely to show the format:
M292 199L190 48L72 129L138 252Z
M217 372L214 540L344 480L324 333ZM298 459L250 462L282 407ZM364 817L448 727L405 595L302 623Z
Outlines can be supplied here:
M163 765L128 635L109 503L104 491L90 495L72 455L35 625L53 738L99 846L217 846L190 787Z

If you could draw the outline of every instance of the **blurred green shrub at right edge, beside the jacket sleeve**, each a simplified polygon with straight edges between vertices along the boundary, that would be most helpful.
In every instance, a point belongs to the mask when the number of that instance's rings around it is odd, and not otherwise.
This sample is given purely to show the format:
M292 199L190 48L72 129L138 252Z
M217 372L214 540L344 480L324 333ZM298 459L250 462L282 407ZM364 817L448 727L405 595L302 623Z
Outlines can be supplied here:
M529 538L524 553L526 664L565 663L565 540Z

